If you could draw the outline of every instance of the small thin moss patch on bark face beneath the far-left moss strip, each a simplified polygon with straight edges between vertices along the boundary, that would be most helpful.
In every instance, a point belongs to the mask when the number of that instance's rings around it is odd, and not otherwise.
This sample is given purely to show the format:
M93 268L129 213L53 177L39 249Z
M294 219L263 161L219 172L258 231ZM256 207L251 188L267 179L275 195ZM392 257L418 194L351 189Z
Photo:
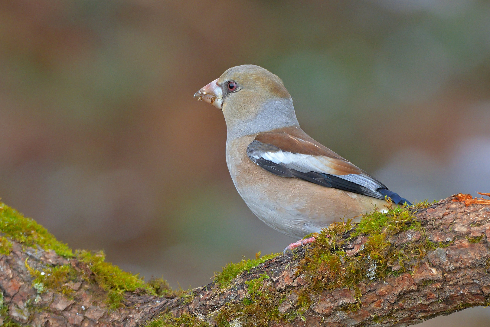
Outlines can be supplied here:
M45 271L32 269L25 260L25 267L29 271L34 280L32 286L38 293L43 293L50 289L58 293L62 293L69 298L74 291L66 285L66 283L77 279L77 272L71 265L61 265L52 268L47 268Z

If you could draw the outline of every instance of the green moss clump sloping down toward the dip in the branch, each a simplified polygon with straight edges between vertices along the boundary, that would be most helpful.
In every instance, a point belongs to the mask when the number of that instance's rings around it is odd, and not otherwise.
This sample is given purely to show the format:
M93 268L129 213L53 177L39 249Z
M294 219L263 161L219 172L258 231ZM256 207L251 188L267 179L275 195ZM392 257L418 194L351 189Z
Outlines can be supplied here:
M92 271L93 275L90 276L90 279L107 291L108 304L111 308L121 306L126 291L133 292L140 289L148 294L156 295L155 289L138 275L127 273L118 266L105 262L104 252L77 251L75 254L77 259L87 264Z

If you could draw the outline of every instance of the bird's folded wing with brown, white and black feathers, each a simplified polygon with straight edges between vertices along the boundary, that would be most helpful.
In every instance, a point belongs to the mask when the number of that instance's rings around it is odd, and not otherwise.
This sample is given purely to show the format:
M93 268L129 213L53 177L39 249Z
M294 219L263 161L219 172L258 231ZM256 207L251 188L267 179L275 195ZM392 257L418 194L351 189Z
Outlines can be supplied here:
M373 198L390 197L403 204L406 199L389 191L374 177L309 137L299 127L259 133L247 147L254 163L272 174L295 177L325 187Z

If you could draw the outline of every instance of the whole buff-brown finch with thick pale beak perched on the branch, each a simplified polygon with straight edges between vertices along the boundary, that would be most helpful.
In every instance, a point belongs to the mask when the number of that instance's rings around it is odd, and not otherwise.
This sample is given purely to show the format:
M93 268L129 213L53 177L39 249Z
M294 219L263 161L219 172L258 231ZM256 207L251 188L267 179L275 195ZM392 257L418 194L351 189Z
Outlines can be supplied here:
M226 164L250 210L266 225L315 241L331 223L409 201L306 134L277 75L256 65L227 69L194 95L222 110Z

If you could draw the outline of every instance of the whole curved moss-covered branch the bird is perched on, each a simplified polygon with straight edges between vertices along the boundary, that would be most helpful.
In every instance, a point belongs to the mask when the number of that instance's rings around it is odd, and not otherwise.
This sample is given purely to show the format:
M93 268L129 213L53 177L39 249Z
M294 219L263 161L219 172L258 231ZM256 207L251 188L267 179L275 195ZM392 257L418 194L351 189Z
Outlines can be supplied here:
M490 302L490 201L463 194L333 224L180 294L72 252L5 205L0 227L4 326L408 326Z

